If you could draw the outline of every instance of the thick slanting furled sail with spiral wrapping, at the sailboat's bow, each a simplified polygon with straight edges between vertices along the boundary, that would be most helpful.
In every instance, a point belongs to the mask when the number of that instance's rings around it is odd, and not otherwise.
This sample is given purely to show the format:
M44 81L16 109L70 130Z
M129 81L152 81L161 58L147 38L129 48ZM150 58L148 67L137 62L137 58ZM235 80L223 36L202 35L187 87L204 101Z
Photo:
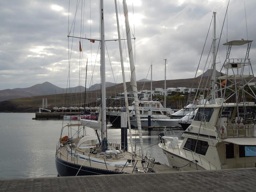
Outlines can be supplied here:
M139 138L140 138L141 156L143 159L144 158L144 150L143 150L143 142L142 142L141 123L140 123L138 90L137 90L135 66L134 66L134 60L133 60L131 32L130 32L130 24L129 24L129 20L128 20L128 10L127 10L126 0L123 1L123 4L124 4L124 17L125 17L125 30L126 30L126 36L127 36L127 45L128 45L130 68L131 68L131 86L132 86L132 91L133 91L136 120L137 120L138 132L139 132Z

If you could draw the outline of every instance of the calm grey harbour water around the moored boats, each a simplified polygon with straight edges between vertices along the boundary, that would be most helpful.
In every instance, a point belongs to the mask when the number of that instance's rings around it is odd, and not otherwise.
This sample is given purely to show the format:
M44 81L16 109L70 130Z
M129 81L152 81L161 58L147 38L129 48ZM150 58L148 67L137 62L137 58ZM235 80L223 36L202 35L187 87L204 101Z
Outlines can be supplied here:
M32 120L32 117L35 113L0 113L0 179L57 176L54 160L62 120ZM144 153L168 164L164 153L154 145L158 143L159 132L142 131ZM110 142L121 142L120 135L121 129L108 129ZM135 130L132 138L139 144Z

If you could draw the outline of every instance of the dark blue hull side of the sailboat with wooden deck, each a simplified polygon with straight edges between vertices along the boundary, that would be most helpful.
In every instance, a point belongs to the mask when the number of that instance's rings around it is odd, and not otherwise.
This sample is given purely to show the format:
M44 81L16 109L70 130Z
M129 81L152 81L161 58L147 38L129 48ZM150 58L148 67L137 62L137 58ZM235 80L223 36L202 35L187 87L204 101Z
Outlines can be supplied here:
M56 169L59 176L76 176L81 165L70 163L56 157L55 159ZM94 167L82 166L78 172L78 176L83 175L108 175L108 174L123 174L123 172L112 171L107 169L98 169Z

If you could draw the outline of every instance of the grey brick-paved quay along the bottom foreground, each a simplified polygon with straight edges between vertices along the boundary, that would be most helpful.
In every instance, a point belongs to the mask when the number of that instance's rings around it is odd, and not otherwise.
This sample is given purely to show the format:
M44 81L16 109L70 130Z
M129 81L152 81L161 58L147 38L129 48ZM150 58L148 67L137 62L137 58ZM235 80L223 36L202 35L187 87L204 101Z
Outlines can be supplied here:
M256 191L256 168L0 180L0 191Z

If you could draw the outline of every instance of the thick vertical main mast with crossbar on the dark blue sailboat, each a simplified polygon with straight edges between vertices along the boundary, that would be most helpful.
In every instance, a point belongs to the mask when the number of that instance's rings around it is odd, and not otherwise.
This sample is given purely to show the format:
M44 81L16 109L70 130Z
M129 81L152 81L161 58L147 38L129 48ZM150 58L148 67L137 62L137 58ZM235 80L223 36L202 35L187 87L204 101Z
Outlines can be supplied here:
M100 0L100 74L101 74L101 138L107 137L106 123L106 69L103 0Z

